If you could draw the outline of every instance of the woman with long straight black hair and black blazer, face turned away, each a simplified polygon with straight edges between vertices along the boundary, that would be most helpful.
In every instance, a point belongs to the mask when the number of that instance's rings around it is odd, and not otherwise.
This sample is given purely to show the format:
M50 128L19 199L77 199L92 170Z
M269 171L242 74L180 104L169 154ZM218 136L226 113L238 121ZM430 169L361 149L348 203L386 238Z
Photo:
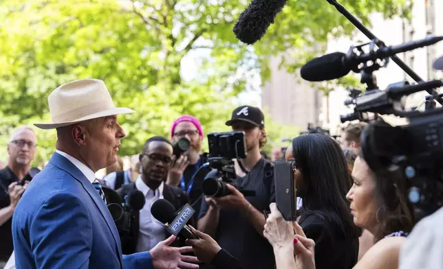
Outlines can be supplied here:
M304 134L292 141L285 158L296 165L296 196L303 200L297 222L316 243L317 268L352 268L360 229L346 200L352 178L340 145L323 134Z

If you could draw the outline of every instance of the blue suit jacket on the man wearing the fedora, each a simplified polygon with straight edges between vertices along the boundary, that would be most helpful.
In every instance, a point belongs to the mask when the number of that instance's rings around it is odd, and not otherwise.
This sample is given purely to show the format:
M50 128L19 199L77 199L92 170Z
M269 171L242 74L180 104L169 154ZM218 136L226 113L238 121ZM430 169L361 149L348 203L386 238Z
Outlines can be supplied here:
M69 160L54 153L12 217L20 268L153 268L151 255L122 256L120 237L102 198Z

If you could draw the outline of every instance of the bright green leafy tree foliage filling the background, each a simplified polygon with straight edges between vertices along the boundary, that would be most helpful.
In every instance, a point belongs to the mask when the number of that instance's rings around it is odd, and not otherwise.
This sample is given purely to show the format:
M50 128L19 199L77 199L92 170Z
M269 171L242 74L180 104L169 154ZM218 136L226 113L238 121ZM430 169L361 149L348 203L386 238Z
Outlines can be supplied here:
M373 11L401 13L403 0L343 4L367 23ZM288 1L250 47L232 31L245 7L246 1L222 0L1 1L0 153L11 128L50 120L50 91L80 78L104 80L116 106L136 110L122 117L127 137L120 154L138 152L153 134L168 135L184 113L199 117L206 130L219 130L251 76L268 77L268 56L354 29L324 0ZM196 70L187 77L186 59ZM55 132L38 134L45 160Z

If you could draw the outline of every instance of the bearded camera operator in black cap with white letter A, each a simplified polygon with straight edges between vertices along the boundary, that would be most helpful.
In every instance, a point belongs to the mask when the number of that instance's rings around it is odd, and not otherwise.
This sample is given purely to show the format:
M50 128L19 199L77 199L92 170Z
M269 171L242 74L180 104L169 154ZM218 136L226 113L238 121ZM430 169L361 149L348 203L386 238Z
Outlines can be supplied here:
M240 106L233 111L226 125L245 132L247 155L242 163L248 174L238 177L236 184L243 189L255 190L256 195L245 197L228 185L230 195L205 198L198 229L239 259L242 268L273 268L272 248L263 238L265 218L262 212L275 200L273 167L260 154L260 148L266 143L264 116L259 108Z

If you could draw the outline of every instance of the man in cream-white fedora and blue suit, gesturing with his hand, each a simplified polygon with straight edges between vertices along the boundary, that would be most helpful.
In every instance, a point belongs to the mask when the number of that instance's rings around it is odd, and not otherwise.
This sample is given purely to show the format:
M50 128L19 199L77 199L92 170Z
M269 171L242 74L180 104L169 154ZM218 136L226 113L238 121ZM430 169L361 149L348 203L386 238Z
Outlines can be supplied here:
M56 129L56 152L28 185L12 217L17 268L198 268L184 256L191 247L172 248L175 237L150 252L123 255L114 221L95 172L117 161L125 131L101 80L76 80L47 99Z

